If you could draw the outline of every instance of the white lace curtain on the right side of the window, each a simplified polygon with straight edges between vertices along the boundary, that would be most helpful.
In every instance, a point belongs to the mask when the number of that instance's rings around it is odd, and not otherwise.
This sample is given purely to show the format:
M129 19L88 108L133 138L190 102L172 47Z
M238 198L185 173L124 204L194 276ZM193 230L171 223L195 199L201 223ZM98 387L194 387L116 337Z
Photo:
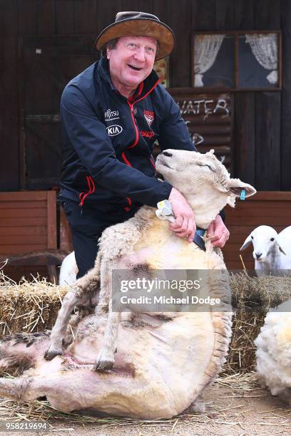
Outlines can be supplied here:
M250 44L252 54L257 62L266 70L271 70L267 81L276 84L278 81L278 46L277 33L255 33L245 35L246 43Z

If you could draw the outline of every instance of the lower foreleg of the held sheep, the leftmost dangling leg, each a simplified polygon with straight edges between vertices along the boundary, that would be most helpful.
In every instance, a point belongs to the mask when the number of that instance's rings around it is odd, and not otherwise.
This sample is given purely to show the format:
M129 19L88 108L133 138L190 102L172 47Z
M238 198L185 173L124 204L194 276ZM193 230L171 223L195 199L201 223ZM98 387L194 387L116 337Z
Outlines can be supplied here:
M73 291L68 291L68 294L64 297L61 308L58 311L56 323L51 331L50 346L44 354L46 360L52 360L56 355L61 355L63 353L63 338L66 334L68 320L70 319L71 311L73 310L73 307L76 306L76 303L78 303L78 300L78 296L76 296Z

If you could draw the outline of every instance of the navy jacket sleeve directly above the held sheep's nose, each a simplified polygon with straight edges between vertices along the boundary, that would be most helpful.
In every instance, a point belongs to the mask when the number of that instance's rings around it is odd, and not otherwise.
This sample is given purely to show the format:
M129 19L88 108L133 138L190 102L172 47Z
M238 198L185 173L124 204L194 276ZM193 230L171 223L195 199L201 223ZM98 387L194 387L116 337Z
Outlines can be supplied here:
M160 137L159 145L161 150L173 148L175 150L197 151L193 144L188 127L180 115L180 110L170 96L168 91L164 90L164 117L160 120Z

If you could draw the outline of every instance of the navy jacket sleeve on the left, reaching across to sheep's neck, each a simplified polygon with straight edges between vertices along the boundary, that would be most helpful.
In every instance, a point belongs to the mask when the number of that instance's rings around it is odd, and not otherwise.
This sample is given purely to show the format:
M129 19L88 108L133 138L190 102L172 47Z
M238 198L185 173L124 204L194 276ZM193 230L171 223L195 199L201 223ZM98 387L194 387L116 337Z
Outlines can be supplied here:
M116 158L115 150L91 103L80 89L68 85L61 98L61 120L69 140L96 185L155 207L168 199L172 186L148 177Z

